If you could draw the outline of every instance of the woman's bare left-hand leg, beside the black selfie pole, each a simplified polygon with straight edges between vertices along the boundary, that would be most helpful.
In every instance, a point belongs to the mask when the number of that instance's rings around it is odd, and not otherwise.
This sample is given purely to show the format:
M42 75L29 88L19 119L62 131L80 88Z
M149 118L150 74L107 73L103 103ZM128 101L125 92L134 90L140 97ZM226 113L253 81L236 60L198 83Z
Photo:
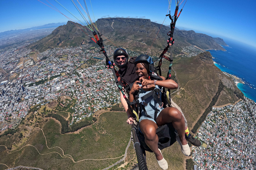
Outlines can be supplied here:
M148 147L154 152L157 160L162 160L163 156L158 150L158 136L156 129L158 126L151 120L144 119L140 121L140 130L145 136L145 142ZM185 130L184 130L185 131Z

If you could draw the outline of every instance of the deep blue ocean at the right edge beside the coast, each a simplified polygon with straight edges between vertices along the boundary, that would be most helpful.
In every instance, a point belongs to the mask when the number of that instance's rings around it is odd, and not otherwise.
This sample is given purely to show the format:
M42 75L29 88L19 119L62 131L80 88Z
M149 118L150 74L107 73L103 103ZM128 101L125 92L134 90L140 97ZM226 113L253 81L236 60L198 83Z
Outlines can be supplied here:
M241 42L224 40L228 46L222 46L226 51L207 50L213 56L215 65L224 72L239 77L245 84L237 87L244 96L256 102L256 48Z

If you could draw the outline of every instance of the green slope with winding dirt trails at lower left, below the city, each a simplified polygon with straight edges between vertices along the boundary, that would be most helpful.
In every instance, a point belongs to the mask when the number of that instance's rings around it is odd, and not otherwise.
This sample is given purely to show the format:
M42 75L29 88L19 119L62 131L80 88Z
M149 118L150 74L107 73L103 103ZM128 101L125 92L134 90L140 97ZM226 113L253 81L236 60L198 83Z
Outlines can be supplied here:
M0 162L9 167L24 164L26 166L40 167L48 170L104 169L122 158L120 156L124 154L130 139L131 128L126 124L126 117L116 116L117 114L120 115L120 113L115 112L103 113L91 128L84 128L76 134L61 134L60 125L53 119L49 119L42 128L45 137L41 129L33 128L29 136L29 141L24 143L24 145L31 144L35 146L40 154L33 146L29 145L22 149L17 148L17 150L21 149L20 151L13 152L14 150L12 150L11 152L13 153L11 154L7 154L6 148L0 146ZM19 134L16 133L15 135L18 136ZM3 140L5 141L3 142ZM47 145L51 149L47 148L45 140L47 140ZM11 138L8 137L1 138L0 145L6 145L5 143L10 142L13 143L14 141L11 141ZM60 156L63 156L63 152L59 147L63 149L66 157L63 158ZM9 148L9 146L7 148ZM129 150L129 155L127 156L130 160L134 158L132 144ZM60 155L54 152L58 152ZM72 156L77 163L74 163L69 158L69 155ZM115 159L84 160L105 158ZM135 160L132 162L134 164ZM7 168L1 167L2 169Z

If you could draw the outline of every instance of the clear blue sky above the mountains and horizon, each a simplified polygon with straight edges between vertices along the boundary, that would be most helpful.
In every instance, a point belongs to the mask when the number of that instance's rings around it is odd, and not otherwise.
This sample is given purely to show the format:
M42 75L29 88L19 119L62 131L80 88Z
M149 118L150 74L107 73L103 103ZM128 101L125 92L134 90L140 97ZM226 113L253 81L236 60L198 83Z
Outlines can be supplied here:
M42 2L49 4L46 0ZM48 0L56 8L70 18L65 9L54 0ZM68 10L79 17L70 0L58 0ZM74 0L77 3L77 0ZM83 4L83 0L79 0ZM95 19L104 17L145 18L162 24L168 10L168 0L91 0ZM182 8L185 0L180 6ZM91 17L90 1L86 1ZM255 18L256 1L253 0L188 0L176 27L194 30L212 37L236 40L256 47ZM174 14L175 1L172 1L171 15ZM49 23L67 22L67 18L38 0L1 0L0 1L0 32L25 29ZM81 17L80 17L81 18ZM93 18L93 17L92 17ZM169 25L166 18L164 25Z

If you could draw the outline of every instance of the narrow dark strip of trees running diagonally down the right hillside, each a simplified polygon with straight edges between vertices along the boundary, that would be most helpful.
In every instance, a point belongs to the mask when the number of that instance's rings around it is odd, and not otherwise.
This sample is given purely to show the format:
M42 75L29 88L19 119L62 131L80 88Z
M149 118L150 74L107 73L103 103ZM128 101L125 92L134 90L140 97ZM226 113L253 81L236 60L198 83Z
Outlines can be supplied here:
M201 126L201 124L204 122L204 120L206 119L207 115L211 112L212 107L215 105L215 103L218 100L218 97L220 95L220 92L223 90L225 86L222 84L222 82L219 82L219 86L218 86L218 91L216 92L215 96L212 98L212 101L210 103L210 105L205 109L203 115L200 117L200 119L197 121L197 123L195 124L194 128L191 130L193 133L196 133L197 129Z

